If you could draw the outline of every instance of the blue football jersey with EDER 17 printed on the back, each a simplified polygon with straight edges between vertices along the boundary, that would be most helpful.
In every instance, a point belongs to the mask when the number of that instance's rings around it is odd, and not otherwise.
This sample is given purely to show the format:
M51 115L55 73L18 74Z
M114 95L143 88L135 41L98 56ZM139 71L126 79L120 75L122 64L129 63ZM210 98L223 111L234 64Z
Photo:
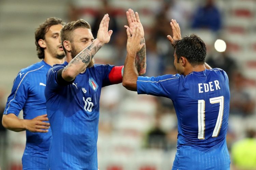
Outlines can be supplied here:
M178 119L173 169L230 168L226 145L229 82L222 69L205 69L184 76L138 77L138 94L172 100Z

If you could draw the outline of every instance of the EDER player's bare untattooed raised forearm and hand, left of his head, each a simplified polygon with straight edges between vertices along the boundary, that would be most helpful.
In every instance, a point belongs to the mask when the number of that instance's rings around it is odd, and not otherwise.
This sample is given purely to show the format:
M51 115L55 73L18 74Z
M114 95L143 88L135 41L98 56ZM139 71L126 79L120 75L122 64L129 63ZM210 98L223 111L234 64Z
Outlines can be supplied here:
M135 66L136 53L140 51L145 44L140 44L140 29L138 27L133 27L132 36L129 32L129 28L126 29L126 33L127 55L124 65L123 86L128 90L137 91L137 78L139 73Z

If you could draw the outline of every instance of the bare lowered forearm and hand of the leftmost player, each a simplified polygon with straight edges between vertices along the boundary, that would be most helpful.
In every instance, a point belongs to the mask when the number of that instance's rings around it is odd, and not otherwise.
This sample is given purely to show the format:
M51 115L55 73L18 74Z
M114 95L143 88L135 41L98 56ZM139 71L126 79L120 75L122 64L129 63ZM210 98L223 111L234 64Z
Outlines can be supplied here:
M48 121L47 115L41 115L35 117L34 119L19 119L15 114L3 115L2 124L4 128L9 129L11 131L20 132L29 130L30 132L48 132L50 124Z

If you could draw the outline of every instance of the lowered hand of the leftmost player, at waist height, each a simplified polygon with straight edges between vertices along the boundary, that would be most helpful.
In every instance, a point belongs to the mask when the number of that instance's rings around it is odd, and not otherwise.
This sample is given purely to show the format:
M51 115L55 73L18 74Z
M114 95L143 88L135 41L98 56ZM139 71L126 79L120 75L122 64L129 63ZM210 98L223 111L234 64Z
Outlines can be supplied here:
M31 120L24 119L24 122L26 124L26 129L29 130L30 132L46 133L48 132L47 129L49 129L50 123L43 122L43 121L49 121L47 118L47 114L40 115ZM42 130L42 129L46 129L46 130Z

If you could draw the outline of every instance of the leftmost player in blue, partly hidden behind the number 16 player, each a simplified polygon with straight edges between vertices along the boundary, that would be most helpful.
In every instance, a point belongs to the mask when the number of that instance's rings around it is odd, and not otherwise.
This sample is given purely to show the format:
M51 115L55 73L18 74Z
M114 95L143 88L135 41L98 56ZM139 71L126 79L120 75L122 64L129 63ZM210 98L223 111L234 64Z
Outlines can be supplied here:
M20 70L8 97L2 124L20 132L26 130L26 148L22 157L23 169L45 169L51 142L44 89L46 73L54 64L65 61L60 43L60 30L64 23L59 18L48 18L35 31L38 58L43 59ZM17 116L23 110L23 118Z

